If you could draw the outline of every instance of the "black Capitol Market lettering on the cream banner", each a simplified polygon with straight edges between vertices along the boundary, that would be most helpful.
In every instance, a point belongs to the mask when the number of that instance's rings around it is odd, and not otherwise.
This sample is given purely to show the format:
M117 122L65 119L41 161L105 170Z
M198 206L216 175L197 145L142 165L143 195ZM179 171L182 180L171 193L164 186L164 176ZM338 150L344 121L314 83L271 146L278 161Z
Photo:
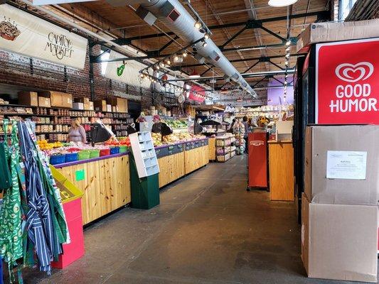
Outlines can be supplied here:
M48 42L45 50L48 50L53 56L62 60L63 58L71 58L73 56L73 41L65 35L48 34Z

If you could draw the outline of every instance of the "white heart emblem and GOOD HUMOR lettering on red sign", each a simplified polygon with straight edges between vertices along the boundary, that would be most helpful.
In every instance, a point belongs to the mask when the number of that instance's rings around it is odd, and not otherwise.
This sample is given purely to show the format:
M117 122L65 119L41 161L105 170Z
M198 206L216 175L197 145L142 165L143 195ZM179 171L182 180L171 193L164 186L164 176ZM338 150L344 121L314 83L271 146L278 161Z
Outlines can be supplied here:
M370 97L371 85L365 83L374 72L370 62L342 63L336 67L336 76L351 84L338 84L336 99L329 105L331 112L378 111L377 99Z

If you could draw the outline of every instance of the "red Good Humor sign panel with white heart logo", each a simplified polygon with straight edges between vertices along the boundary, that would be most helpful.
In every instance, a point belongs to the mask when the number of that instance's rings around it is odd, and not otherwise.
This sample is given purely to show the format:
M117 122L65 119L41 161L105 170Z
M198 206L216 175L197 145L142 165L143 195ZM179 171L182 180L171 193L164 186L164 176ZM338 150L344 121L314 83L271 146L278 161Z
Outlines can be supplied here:
M316 45L316 123L379 124L379 38Z

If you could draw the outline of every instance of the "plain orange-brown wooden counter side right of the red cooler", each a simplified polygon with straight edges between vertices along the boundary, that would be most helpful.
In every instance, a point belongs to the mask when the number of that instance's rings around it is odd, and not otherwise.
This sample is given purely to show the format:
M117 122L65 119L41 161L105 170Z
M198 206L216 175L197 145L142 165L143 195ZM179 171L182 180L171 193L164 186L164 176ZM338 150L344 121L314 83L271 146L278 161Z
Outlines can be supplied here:
M269 141L271 200L294 201L294 148L292 141Z

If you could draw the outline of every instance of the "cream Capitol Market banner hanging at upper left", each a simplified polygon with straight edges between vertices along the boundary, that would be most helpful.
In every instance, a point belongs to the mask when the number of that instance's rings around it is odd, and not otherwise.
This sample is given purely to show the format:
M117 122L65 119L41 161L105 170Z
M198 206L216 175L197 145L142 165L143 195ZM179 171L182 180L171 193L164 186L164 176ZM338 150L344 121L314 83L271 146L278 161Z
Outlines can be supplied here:
M87 39L3 4L0 5L0 49L83 69Z

